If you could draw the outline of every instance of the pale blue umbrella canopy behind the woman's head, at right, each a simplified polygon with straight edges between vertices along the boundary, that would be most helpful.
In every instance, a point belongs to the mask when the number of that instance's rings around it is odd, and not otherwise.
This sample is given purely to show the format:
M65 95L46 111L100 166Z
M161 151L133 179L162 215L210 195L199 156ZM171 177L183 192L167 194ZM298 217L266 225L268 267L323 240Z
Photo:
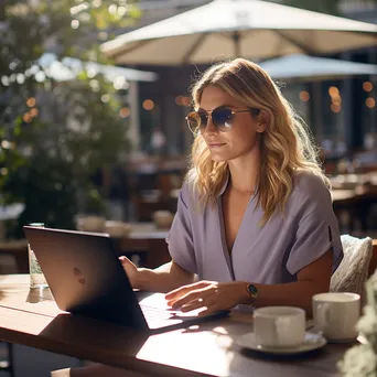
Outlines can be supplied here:
M364 64L302 54L277 57L259 63L270 76L284 79L316 80L335 77L377 75L376 64Z

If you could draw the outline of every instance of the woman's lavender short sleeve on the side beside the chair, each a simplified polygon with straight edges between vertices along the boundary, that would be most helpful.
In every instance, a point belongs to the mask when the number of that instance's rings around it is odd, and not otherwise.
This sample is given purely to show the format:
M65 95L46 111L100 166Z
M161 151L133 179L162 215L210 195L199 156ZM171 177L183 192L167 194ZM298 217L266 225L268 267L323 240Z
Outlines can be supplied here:
M286 265L291 274L295 274L328 250L333 252L333 272L343 259L341 235L331 194L317 180L321 179L312 179L313 182L298 188L304 192L297 195L297 200L301 201L302 211L294 222L295 236Z

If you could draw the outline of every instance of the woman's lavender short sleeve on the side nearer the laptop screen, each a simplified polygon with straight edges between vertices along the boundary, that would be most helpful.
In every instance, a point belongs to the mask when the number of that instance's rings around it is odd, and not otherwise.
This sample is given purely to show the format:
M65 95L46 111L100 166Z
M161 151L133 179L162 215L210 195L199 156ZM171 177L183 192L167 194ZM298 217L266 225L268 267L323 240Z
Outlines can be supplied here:
M185 183L180 192L177 208L166 243L170 256L184 270L196 273L193 234L188 208L188 187Z

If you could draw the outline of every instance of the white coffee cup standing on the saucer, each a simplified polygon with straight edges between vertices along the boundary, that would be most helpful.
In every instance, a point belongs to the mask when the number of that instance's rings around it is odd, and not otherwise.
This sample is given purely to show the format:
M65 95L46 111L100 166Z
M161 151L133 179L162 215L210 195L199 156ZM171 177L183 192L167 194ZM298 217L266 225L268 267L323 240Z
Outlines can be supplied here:
M305 337L305 312L294 306L265 306L254 312L257 344L266 347L294 347Z

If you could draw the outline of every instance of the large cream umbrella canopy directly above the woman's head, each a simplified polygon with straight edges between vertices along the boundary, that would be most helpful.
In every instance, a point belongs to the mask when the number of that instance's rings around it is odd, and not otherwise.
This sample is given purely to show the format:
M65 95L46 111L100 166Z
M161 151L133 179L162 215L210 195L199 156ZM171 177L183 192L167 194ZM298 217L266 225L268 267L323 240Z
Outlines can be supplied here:
M118 64L179 65L375 46L377 26L260 0L215 0L101 45Z

